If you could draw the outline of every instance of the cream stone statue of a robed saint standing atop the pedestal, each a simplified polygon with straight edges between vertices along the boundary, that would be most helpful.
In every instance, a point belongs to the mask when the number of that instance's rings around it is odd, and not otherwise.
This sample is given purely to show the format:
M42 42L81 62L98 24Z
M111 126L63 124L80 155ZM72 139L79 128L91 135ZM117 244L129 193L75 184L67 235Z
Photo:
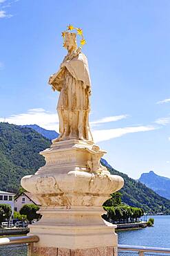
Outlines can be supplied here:
M89 129L89 68L87 57L77 47L76 35L68 30L64 32L64 46L68 53L59 71L49 79L52 89L60 91L57 105L60 136L54 141L73 138L93 140Z

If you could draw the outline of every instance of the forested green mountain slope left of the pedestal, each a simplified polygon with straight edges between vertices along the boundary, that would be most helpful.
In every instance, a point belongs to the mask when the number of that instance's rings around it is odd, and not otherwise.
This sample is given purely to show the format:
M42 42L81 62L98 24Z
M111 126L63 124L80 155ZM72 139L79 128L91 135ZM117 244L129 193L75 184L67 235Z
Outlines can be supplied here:
M17 192L21 178L45 164L39 152L50 144L33 129L0 122L0 190Z

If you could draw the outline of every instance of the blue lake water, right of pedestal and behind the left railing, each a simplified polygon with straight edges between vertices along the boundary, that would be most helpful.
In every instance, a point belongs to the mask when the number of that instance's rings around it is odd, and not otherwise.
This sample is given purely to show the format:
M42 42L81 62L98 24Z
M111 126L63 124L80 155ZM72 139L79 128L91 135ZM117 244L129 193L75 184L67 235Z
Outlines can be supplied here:
M170 216L151 216L154 227L117 231L118 244L170 248ZM149 218L149 217L148 217ZM0 256L26 256L27 247L0 246Z

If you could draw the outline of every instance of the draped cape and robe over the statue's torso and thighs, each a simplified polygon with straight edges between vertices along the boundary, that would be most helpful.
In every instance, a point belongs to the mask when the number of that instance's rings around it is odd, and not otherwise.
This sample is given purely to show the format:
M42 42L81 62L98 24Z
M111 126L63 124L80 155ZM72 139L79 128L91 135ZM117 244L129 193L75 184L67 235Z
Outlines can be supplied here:
M61 93L57 108L70 111L89 111L90 78L87 58L79 53L63 62Z

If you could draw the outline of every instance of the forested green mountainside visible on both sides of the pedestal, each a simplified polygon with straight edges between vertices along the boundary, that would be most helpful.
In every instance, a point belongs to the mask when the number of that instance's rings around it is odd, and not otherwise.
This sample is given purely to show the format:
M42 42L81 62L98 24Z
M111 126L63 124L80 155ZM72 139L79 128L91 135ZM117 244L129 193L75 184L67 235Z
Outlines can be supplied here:
M45 164L39 152L50 147L50 144L49 139L34 129L0 122L0 190L17 192L21 177L34 174ZM125 185L120 190L123 203L143 208L146 212L170 214L170 200L114 170L104 159L102 163L111 174L120 175L125 180Z

